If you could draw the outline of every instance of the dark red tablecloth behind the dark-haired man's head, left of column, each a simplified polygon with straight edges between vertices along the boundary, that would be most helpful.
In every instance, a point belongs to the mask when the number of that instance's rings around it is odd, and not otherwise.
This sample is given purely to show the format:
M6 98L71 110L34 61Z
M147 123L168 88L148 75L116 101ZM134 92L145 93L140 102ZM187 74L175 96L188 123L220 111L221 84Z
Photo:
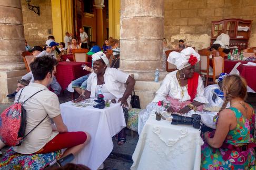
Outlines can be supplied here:
M60 83L62 90L65 90L72 80L88 75L88 73L90 73L89 71L83 70L81 67L83 64L88 67L92 66L91 62L61 61L58 63L56 67L56 79L58 83Z

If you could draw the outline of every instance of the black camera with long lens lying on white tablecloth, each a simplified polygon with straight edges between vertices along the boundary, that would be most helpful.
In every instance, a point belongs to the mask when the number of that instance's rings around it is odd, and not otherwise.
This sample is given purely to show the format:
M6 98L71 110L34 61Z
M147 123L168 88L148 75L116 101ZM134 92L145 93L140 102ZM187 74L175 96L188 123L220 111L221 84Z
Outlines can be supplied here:
M172 114L171 124L191 124L195 129L200 129L201 127L201 115L192 114L192 117L182 116L179 114Z

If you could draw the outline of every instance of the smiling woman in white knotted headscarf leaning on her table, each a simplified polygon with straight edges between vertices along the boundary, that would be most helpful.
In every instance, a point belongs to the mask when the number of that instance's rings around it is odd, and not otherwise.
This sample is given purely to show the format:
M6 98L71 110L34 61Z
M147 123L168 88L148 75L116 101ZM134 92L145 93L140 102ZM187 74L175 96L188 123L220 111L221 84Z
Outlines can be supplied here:
M106 55L100 51L92 55L93 70L87 80L86 91L73 102L78 102L88 98L95 98L97 92L101 89L104 99L119 99L124 111L124 118L127 124L129 103L131 101L131 93L134 88L135 80L115 68L109 67L109 60ZM118 144L122 145L126 142L125 130L121 130L118 134Z

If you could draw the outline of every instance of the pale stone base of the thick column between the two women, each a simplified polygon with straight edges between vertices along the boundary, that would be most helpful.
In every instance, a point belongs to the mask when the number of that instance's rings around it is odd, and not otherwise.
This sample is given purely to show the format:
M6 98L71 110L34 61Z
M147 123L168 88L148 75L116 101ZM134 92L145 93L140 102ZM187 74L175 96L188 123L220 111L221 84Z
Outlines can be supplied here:
M155 92L160 88L160 82L154 81L136 81L134 91L140 97L141 109L146 109L155 97Z

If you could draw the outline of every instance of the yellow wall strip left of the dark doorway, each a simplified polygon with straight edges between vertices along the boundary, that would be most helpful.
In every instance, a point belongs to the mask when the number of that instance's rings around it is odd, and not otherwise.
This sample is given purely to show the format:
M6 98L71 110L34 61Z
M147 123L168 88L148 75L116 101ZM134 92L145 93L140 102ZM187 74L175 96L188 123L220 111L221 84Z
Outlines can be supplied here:
M62 42L66 32L73 30L73 4L71 0L52 0L53 36Z

